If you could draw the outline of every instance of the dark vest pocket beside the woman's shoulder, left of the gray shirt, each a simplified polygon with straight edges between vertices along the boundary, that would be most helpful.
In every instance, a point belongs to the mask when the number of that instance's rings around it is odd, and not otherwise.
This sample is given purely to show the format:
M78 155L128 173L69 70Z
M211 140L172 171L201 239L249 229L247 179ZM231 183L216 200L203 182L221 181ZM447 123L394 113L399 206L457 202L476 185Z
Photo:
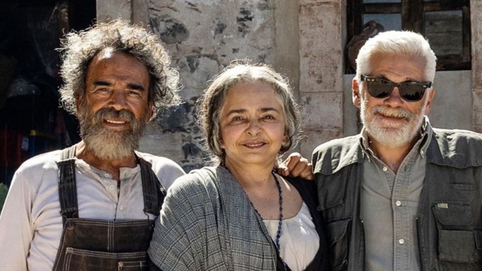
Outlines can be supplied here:
M351 218L329 222L326 225L329 245L330 270L345 270L348 266L348 241L351 230Z

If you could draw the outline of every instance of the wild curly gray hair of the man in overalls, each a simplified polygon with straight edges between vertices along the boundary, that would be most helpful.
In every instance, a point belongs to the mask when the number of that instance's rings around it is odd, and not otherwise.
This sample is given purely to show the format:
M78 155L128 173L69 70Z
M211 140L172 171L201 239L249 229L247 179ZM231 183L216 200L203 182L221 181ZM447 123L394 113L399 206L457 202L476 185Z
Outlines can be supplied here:
M77 114L76 100L85 91L85 76L92 58L100 51L113 51L133 55L144 63L150 75L149 102L153 118L165 107L178 105L179 73L171 68L171 58L161 41L142 25L114 20L97 23L80 32L72 32L61 41L62 65L60 75L60 101L64 108Z

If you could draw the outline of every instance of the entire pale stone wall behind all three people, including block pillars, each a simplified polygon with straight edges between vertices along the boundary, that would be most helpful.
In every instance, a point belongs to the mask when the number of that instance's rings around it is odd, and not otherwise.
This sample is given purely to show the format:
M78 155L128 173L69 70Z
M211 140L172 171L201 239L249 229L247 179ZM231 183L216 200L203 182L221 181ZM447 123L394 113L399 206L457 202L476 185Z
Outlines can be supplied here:
M195 101L206 81L235 58L272 63L287 75L304 113L305 139L314 147L357 132L351 78L344 75L347 0L102 0L97 17L151 25L180 71L186 103L151 123L141 150L185 170L204 164ZM430 113L434 126L482 132L482 2L471 1L472 70L437 72Z

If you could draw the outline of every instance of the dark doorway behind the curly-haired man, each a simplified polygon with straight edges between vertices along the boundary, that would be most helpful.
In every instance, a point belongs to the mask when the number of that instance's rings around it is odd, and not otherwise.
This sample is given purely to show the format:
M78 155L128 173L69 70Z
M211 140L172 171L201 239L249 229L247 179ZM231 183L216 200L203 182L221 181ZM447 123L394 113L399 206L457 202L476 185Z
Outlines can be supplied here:
M95 20L95 0L0 4L0 182L28 158L77 143L78 123L59 106L59 40Z

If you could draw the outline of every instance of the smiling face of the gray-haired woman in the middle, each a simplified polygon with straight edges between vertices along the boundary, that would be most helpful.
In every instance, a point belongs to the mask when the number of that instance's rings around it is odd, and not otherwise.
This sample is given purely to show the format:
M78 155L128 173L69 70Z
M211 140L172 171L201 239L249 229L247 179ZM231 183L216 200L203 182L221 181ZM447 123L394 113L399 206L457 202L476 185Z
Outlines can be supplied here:
M286 143L283 107L265 83L239 83L225 97L220 115L225 164L273 167Z

